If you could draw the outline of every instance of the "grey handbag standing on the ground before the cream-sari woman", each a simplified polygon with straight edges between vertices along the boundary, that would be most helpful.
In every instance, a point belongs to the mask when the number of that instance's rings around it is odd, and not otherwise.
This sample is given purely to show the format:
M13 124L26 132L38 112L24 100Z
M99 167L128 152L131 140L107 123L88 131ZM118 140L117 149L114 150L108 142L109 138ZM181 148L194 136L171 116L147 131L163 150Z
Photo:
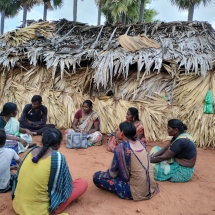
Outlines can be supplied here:
M66 147L69 149L86 149L88 147L87 135L78 132L68 133L66 139Z

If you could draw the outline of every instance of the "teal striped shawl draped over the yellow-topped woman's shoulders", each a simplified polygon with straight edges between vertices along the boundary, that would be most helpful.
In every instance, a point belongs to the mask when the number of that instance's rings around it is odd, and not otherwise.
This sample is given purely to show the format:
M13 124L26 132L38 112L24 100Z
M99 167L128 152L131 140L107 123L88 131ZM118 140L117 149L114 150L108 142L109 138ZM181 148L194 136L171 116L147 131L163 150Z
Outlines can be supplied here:
M32 148L26 155L37 147ZM17 171L17 177L19 176L19 170L22 167L22 163L24 162L25 158L19 165L19 169ZM14 193L16 189L16 182L14 183L12 189L12 199L14 198ZM51 155L51 173L49 177L48 183L48 194L50 198L50 207L49 212L50 214L54 214L54 211L58 208L58 206L65 202L72 193L72 177L69 172L68 165L66 163L66 159L64 155L60 152L53 150Z

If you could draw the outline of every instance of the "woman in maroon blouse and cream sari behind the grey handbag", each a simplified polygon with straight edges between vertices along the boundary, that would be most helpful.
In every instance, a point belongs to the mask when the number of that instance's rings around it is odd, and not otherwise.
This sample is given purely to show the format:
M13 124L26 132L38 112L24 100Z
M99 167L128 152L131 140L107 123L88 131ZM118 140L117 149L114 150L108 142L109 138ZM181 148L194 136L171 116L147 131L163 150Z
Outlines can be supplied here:
M93 103L90 100L84 101L82 109L76 112L72 128L65 131L66 136L73 131L84 132L88 135L89 144L97 146L102 144L102 134L99 132L100 119L93 110Z

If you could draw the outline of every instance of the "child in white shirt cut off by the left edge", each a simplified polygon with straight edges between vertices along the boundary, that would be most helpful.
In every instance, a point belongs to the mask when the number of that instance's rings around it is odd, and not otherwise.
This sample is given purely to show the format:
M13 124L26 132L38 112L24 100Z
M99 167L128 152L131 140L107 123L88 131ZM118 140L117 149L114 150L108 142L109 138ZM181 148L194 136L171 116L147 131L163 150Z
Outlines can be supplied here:
M10 148L4 148L6 141L6 133L0 129L0 193L5 193L12 188L15 175L10 172L10 163L14 159L20 163L17 153Z

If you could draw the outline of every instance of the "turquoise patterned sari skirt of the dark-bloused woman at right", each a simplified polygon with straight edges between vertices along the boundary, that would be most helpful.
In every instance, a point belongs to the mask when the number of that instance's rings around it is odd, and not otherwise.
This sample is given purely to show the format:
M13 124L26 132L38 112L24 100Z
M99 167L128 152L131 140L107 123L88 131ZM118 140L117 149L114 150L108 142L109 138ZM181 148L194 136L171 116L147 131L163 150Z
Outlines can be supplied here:
M155 146L150 151L150 154L159 150L161 148ZM151 165L154 169L154 178L157 181L187 182L192 178L194 172L194 167L181 166L174 158L171 159L171 163L162 161L157 164L152 163Z

